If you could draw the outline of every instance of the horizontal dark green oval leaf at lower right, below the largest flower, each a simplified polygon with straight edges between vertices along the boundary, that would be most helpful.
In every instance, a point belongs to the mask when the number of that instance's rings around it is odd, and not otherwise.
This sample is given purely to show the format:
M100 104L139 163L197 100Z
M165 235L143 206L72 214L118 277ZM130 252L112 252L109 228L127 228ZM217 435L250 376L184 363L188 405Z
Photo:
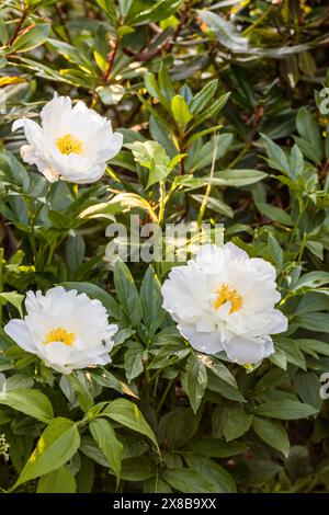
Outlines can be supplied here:
M271 416L272 419L280 420L306 419L315 413L317 413L317 410L311 405L290 399L265 402L258 405L254 410L256 415Z

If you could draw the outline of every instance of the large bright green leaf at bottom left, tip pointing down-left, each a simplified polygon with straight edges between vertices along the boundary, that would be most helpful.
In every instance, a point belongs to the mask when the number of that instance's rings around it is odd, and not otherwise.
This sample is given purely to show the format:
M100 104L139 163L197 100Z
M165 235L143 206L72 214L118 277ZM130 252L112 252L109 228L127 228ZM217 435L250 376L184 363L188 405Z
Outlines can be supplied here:
M78 450L80 435L75 422L54 419L41 435L13 489L65 465Z

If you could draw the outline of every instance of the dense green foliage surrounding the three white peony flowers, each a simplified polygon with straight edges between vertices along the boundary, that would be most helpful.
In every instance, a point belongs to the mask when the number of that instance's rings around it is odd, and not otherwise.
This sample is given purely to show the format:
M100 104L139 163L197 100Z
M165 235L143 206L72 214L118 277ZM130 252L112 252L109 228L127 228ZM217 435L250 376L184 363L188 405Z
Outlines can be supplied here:
M8 0L0 14L2 321L27 288L64 283L100 298L121 328L109 370L60 380L0 330L12 391L0 408L11 444L0 485L20 477L18 489L32 492L328 490L326 2ZM36 117L54 91L124 135L95 185L49 188L21 163L11 123ZM146 140L157 141L151 151ZM123 264L113 273L105 228L114 217L128 227L136 213L160 226L222 222L226 241L274 264L290 319L275 355L249 370L193 352L161 310L171 264L156 263L156 277L134 263L135 282ZM66 422L49 422L39 392ZM147 421L137 428L127 399ZM55 469L33 476L27 459L45 424L58 424L72 453L60 457L59 446Z

